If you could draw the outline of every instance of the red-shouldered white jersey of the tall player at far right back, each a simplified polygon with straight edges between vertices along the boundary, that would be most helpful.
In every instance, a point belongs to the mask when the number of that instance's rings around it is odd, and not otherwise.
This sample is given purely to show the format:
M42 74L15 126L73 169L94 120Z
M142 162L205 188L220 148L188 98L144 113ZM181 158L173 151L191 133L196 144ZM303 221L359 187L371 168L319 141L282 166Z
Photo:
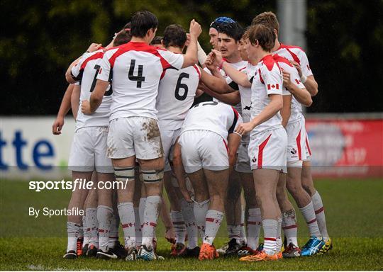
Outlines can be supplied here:
M284 45L281 43L281 46L273 52L273 54L278 54L279 56L286 57L287 60L294 60L301 66L302 74L305 77L313 75L311 71L309 59L307 58L304 50L299 46L294 45Z

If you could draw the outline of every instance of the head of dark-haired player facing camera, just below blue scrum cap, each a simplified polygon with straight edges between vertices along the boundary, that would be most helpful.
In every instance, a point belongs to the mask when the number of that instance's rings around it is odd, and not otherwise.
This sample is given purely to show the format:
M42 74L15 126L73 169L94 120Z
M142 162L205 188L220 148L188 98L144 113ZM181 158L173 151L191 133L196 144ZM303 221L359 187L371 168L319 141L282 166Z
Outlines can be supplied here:
M218 48L223 57L230 60L238 56L238 42L243 35L243 28L237 23L222 23L218 26Z

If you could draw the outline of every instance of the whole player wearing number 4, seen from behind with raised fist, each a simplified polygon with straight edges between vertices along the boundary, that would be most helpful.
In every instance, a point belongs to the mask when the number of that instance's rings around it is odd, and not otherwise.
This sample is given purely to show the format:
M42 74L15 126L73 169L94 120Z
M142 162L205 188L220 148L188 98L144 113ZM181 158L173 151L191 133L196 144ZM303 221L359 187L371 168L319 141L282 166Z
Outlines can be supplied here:
M149 45L155 37L157 17L138 11L131 20L131 42L106 51L96 87L82 111L92 114L99 107L109 82L113 96L108 134L108 155L113 161L116 180L127 181L126 190L118 190L118 212L128 242L128 259L135 259L135 215L133 210L134 166L138 159L146 191L143 239L138 257L158 259L152 238L161 202L164 159L157 125L155 97L162 72L181 69L197 62L196 40L201 26L190 23L190 45L186 55L159 50Z

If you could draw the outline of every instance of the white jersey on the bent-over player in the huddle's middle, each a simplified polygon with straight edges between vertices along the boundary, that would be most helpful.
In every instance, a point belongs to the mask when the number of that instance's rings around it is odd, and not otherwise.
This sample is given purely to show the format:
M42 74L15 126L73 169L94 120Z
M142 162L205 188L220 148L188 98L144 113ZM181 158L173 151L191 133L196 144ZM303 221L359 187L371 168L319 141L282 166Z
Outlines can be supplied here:
M189 110L182 125L182 132L188 130L209 130L227 139L242 117L235 108L217 101L201 102Z

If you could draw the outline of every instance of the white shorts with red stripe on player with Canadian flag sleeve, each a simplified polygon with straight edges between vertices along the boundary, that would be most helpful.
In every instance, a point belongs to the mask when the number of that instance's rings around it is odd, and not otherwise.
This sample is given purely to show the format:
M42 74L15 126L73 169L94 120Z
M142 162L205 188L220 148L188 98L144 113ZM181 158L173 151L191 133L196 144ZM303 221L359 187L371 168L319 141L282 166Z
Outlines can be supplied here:
M251 135L248 154L251 169L275 169L287 173L287 133L284 128Z

